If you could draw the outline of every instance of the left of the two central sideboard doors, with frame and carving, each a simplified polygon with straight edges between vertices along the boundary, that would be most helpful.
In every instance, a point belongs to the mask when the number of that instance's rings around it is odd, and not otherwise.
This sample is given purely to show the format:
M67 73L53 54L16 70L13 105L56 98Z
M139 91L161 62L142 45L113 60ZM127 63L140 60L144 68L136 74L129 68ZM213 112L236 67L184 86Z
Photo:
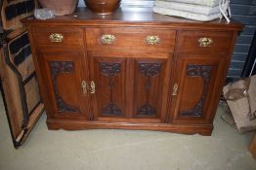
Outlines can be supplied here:
M126 57L120 52L95 51L89 57L94 119L125 118Z

